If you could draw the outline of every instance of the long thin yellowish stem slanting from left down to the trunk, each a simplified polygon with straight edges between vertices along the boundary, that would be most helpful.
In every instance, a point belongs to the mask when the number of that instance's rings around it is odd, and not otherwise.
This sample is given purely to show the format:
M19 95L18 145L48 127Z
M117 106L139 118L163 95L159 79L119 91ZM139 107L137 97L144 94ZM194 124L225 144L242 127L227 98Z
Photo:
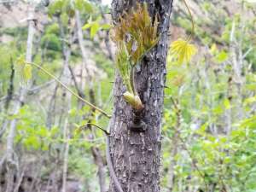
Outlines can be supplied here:
M61 84L62 87L64 87L66 90L68 90L73 96L76 96L79 100L81 100L82 102L86 103L88 106L90 106L90 108L95 109L96 111L102 113L104 116L106 116L108 119L111 118L111 115L109 115L107 112L103 111L101 108L96 107L95 105L91 104L90 102L86 101L83 97L79 96L78 94L76 94L73 90L71 90L70 88L67 87L66 84L63 84L61 82L61 80L57 79L55 77L55 75L53 75L52 73L49 73L46 69L44 69L43 67L39 66L38 64L34 63L34 62L26 62L26 64L32 65L34 67L37 67L39 70L43 71L44 73L46 73L47 75L49 75L49 77L51 77L52 79L55 79L55 81L57 81L59 84Z

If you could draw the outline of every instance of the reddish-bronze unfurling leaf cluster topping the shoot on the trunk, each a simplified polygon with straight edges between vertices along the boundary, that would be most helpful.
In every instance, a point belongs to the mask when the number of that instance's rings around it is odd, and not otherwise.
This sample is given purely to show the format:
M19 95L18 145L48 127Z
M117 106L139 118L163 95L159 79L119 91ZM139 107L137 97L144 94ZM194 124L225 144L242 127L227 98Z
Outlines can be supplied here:
M158 18L155 16L153 21L148 13L147 4L137 3L136 10L126 12L119 20L119 24L113 28L112 39L116 44L125 42L132 63L137 64L159 41Z

